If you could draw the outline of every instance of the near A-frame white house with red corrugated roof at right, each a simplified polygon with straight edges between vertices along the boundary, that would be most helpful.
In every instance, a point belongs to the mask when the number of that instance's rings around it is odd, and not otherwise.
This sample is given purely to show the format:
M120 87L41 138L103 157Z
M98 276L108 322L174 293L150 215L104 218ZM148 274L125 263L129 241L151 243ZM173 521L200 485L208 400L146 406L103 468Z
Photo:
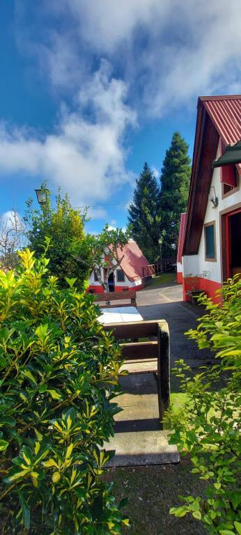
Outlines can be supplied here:
M189 278L210 297L241 273L241 163L212 167L241 140L241 95L199 97L187 214L182 214L178 280L184 300ZM183 280L182 280L183 279Z

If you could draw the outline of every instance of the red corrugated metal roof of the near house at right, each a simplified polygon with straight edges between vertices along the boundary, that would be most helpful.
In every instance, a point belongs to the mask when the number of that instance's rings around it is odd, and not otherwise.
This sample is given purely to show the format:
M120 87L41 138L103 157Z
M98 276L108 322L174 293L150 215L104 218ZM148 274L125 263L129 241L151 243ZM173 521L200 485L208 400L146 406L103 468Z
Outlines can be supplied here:
M225 145L241 140L241 95L200 97ZM241 169L241 165L238 167Z

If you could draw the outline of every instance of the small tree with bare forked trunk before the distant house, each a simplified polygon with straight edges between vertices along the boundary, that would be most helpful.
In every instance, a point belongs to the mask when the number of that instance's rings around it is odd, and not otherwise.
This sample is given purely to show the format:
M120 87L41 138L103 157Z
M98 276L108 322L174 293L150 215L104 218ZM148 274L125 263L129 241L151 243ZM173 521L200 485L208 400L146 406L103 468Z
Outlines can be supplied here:
M109 291L108 279L123 261L123 247L128 233L122 228L109 228L106 224L100 234L87 234L85 240L75 240L72 252L81 265L96 274L104 291Z

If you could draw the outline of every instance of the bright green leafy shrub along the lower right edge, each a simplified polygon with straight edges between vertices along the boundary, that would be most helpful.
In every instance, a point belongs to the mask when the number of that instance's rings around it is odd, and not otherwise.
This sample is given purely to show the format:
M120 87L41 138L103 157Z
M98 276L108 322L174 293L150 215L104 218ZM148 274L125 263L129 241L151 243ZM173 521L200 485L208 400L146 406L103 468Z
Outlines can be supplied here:
M240 535L241 281L228 279L220 293L221 305L199 298L207 313L187 333L200 349L215 351L217 363L192 376L183 360L176 362L174 373L187 403L166 415L175 430L171 442L192 456L192 472L207 481L207 488L204 497L180 497L185 504L170 512L192 513L210 534Z

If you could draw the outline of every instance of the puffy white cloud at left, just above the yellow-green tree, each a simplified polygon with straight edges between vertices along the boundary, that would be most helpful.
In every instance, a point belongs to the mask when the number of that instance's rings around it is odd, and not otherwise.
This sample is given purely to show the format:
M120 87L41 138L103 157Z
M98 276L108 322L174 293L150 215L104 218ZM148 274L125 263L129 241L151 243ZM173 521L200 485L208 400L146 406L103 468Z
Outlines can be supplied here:
M108 199L132 178L125 169L124 136L136 117L125 104L126 94L126 84L111 78L108 63L102 62L77 94L77 110L62 107L55 133L39 139L32 131L10 132L1 125L0 173L42 176L50 187L67 190L75 206ZM95 210L95 217L104 214Z

